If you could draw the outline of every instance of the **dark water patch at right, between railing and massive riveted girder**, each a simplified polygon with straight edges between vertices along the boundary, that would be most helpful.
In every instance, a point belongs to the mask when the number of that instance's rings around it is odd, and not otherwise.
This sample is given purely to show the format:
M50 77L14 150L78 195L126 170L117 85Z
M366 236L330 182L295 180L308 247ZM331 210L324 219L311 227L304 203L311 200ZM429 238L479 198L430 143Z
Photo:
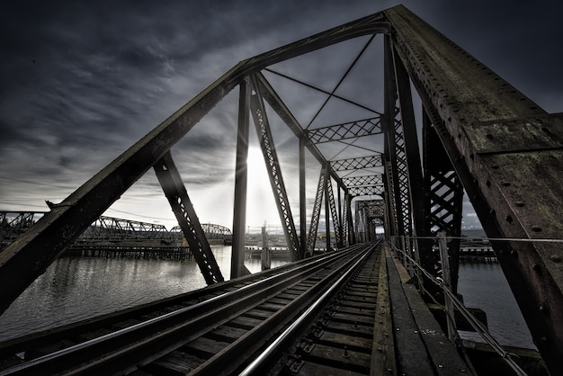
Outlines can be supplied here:
M487 313L489 332L501 345L535 348L499 264L460 265L458 290L466 307Z

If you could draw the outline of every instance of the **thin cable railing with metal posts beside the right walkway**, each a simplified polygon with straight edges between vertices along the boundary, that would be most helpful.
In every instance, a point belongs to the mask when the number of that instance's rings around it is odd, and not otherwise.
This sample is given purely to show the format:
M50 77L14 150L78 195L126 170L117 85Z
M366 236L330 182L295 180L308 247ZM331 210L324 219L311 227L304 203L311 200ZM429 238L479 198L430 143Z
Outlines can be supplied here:
M442 279L436 278L435 275L425 270L424 267L419 264L415 258L412 257L412 255L414 255L414 251L410 244L413 239L437 240L441 255L446 255L445 257L442 256ZM446 242L447 240L451 239L467 240L467 237L446 237L444 233L438 234L438 237L392 237L390 245L395 250L395 252L401 255L401 257L405 260L405 266L411 276L416 276L418 279L420 279L419 273L423 273L427 281L433 282L433 284L438 286L444 292L446 318L448 321L448 330L450 332L449 336L451 341L454 341L454 338L460 338L457 332L457 328L455 327L455 318L453 316L453 307L455 307L455 309L458 309L460 314L467 319L469 325L475 329L476 333L478 333L478 335L481 336L483 340L491 346L496 354L498 354L505 361L505 363L514 370L515 374L519 376L526 376L527 373L524 372L523 369L514 362L513 357L517 357L518 355L507 352L505 348L500 345L498 341L496 341L495 337L488 332L487 327L485 327L478 320L478 318L476 318L469 311L469 309L467 309L465 305L457 298L456 294L451 291L449 285L449 275L447 275L448 273L446 273L446 269L449 268L449 266L447 265L448 258ZM508 239L489 237L482 237L481 239L488 241L552 241L554 243L563 243L563 240L561 239ZM400 244L400 247L398 247L396 243ZM419 283L419 285L421 289L425 290L423 283ZM428 295L432 296L431 294Z

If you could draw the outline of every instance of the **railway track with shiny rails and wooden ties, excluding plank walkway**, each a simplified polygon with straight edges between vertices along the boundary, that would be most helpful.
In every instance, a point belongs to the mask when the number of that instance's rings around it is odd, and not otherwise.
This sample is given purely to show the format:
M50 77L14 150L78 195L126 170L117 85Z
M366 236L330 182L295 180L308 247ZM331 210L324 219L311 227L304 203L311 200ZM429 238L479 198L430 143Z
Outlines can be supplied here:
M350 247L8 341L0 344L0 375L296 374L320 370L314 364L369 373L376 247ZM326 351L336 337L342 362Z

